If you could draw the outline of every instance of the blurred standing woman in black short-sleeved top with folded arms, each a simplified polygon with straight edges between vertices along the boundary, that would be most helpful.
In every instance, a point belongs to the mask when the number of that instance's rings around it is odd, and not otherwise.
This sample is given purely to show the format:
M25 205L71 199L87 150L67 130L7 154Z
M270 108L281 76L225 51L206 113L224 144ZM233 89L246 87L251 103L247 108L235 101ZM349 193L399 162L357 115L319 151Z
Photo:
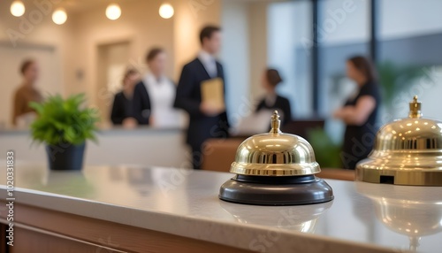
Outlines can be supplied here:
M354 170L355 165L373 148L381 99L377 75L369 59L361 56L349 58L347 76L357 83L359 90L334 112L334 117L347 125L340 157L344 168Z

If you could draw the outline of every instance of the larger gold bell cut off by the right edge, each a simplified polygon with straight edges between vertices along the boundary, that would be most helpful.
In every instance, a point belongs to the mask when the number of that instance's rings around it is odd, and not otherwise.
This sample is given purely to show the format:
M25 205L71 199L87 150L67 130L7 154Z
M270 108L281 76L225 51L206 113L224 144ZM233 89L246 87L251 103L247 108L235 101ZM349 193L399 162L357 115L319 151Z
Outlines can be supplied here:
M356 180L442 186L442 122L422 118L417 96L409 108L408 119L377 132L370 156L356 165Z

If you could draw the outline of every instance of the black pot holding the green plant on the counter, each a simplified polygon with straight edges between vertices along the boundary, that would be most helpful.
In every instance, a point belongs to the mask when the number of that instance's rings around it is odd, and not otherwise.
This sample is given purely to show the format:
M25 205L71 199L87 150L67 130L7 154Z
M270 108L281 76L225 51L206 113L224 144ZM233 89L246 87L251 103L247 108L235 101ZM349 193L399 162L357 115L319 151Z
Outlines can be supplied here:
M80 171L83 167L83 157L86 143L73 145L71 143L60 143L58 145L47 145L48 165L54 171Z

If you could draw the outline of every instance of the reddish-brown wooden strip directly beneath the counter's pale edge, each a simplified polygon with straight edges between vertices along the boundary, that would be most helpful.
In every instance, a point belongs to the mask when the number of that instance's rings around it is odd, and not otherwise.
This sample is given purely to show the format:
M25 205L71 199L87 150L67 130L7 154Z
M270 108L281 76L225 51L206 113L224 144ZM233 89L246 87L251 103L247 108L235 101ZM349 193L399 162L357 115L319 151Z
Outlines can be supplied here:
M0 202L0 204L4 203ZM15 220L20 224L62 234L96 245L110 247L112 249L149 253L252 252L217 243L204 242L178 235L165 234L140 227L126 226L59 211L50 211L19 203L15 203L14 209L16 210Z

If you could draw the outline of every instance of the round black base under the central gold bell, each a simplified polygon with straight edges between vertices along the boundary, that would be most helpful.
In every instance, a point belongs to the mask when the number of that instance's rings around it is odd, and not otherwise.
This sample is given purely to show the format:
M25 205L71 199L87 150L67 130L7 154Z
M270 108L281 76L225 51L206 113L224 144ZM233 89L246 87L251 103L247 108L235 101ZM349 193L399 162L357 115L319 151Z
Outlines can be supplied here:
M255 205L301 205L333 200L333 190L314 175L263 177L236 175L219 190L221 200Z

